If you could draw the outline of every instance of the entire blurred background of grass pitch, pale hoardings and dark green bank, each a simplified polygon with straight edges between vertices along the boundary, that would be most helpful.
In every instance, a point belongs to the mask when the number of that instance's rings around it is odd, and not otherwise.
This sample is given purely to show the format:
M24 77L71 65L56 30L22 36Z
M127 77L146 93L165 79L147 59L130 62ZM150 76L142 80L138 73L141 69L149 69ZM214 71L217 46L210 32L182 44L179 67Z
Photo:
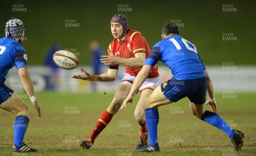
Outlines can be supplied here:
M129 28L140 31L150 48L161 40L164 23L177 23L182 37L198 48L207 67L214 84L218 114L232 128L245 133L244 147L238 154L225 133L192 117L184 98L177 104L159 108L158 139L163 150L157 155L255 156L255 6L256 0L1 0L0 38L5 36L5 24L12 17L25 23L22 46L27 52L28 71L42 118L37 117L15 67L10 69L5 84L31 110L24 141L40 150L33 156L137 156L132 151L139 136L139 125L133 116L138 95L133 105L116 113L92 150L79 147L79 140L90 136L100 113L111 103L125 70L119 67L115 82L80 81L71 77L81 74L79 68L89 74L108 70L108 66L97 60L107 54L113 40L110 21L114 14L125 14ZM58 50L73 52L79 58L79 66L72 70L56 67L52 54ZM169 68L161 62L158 65L162 82L170 79ZM182 113L173 113L174 110ZM0 116L4 116L0 122L0 156L9 156L15 116L2 109ZM132 127L119 127L120 121ZM185 142L174 143L173 136Z

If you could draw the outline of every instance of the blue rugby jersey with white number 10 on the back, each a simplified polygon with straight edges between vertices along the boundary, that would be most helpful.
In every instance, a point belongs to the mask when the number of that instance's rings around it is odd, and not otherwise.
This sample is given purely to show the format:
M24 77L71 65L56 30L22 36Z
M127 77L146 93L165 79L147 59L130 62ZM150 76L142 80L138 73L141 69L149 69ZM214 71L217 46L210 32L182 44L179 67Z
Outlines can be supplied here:
M188 40L174 35L156 43L144 65L153 67L158 60L168 66L175 79L198 79L206 77L204 62L198 50Z

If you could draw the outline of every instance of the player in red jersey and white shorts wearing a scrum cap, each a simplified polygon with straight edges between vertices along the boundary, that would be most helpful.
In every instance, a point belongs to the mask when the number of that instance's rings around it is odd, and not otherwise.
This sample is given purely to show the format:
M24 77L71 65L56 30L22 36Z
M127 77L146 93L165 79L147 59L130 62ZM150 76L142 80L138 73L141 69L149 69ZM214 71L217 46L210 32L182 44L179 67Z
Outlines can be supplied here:
M147 41L139 31L128 29L128 19L123 14L116 14L111 19L111 32L114 40L108 47L108 56L102 56L101 62L109 65L108 72L100 75L90 75L86 71L80 69L83 74L74 75L75 79L84 79L89 81L110 82L115 81L118 73L118 66L125 66L125 74L116 94L108 106L108 108L99 117L96 126L93 128L88 139L83 139L80 146L89 149L93 145L94 140L109 124L113 115L119 110L122 102L131 90L131 86L135 77L139 73L146 58L150 53ZM146 144L148 139L148 130L145 122L145 106L146 97L160 85L160 76L158 67L155 65L148 75L146 81L139 88L140 99L134 111L136 121L140 124L140 138L137 142L137 149Z

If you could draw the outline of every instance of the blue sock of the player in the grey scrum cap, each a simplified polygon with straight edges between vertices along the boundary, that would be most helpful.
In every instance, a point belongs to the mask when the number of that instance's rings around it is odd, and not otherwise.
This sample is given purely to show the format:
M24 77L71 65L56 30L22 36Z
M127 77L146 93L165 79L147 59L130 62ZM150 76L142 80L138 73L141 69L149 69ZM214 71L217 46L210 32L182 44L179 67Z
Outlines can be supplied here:
M14 142L13 145L16 145L17 147L20 147L25 133L26 129L28 128L29 125L29 118L26 116L17 116L15 119L15 123L13 125L13 130L14 130Z

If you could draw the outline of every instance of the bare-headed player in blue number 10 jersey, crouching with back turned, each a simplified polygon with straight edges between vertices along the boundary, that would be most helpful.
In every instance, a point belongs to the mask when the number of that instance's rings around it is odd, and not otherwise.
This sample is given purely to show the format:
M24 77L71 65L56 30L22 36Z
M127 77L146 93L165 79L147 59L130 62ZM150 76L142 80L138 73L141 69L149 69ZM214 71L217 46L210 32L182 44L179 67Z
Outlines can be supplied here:
M230 128L216 114L212 81L195 45L180 37L179 27L176 23L169 22L163 26L162 38L163 40L160 40L152 48L143 68L134 80L130 93L120 108L123 110L126 108L127 102L133 102L134 94L158 60L171 69L173 78L158 86L145 102L149 144L134 152L160 151L157 142L157 124L159 122L157 108L177 102L184 97L189 98L189 106L193 115L224 131L230 137L235 149L241 150L244 133ZM208 94L207 102L206 94ZM204 106L207 104L210 105L211 111L205 111Z

